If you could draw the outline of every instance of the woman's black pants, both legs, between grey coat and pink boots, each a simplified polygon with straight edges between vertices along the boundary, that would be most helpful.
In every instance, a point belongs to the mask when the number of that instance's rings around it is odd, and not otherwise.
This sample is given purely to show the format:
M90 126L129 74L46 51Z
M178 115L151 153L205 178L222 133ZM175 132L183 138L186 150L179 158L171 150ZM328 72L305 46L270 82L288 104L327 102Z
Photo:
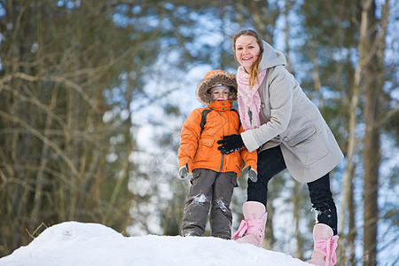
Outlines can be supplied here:
M268 184L273 176L286 169L286 162L280 146L270 148L258 154L258 181L248 179L247 200L259 201L266 207ZM325 223L337 234L337 208L332 200L330 176L325 176L308 183L310 202L317 214L317 223Z

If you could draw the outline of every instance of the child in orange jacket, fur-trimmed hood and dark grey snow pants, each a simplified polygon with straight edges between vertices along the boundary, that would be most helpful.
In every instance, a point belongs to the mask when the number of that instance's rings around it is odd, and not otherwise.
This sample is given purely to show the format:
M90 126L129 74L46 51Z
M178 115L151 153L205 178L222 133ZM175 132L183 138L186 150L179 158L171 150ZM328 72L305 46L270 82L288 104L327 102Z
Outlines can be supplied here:
M222 70L210 71L197 88L197 97L206 108L198 108L184 121L178 150L179 176L191 176L192 184L184 207L183 236L202 236L209 207L213 237L231 239L231 196L237 185L242 159L253 182L257 179L257 153L246 149L223 154L217 141L224 136L239 134L244 129L239 113L231 109L237 100L234 74Z

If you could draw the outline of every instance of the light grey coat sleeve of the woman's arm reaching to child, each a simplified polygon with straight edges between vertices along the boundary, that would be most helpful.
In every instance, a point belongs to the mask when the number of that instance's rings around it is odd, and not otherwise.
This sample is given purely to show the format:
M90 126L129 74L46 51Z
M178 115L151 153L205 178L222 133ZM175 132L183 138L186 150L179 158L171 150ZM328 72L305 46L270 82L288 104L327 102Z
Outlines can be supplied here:
M283 67L283 66L281 66ZM254 151L288 127L293 112L293 78L287 71L270 75L270 121L241 134L248 151Z

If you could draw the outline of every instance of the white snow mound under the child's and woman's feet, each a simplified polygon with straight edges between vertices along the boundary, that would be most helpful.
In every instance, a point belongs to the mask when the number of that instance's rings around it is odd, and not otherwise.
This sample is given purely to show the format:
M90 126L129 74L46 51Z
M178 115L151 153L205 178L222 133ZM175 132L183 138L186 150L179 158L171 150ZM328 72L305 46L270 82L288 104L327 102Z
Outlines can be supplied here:
M100 223L65 222L43 231L29 245L0 258L1 266L80 265L279 265L306 266L299 259L249 244L212 237L124 237Z

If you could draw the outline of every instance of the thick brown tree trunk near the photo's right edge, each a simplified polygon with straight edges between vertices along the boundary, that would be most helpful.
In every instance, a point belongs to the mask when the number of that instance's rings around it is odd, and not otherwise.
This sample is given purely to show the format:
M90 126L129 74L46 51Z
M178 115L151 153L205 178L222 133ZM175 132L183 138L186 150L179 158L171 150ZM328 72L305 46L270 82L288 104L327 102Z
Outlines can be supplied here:
M368 17L368 32L364 46L366 51L372 52L372 59L368 61L364 68L364 266L372 266L377 264L380 133L376 124L379 119L380 103L383 95L383 54L385 50L386 26L384 21L379 21L375 16L375 2L372 1L370 5L367 4L364 5L363 11ZM387 10L385 11L387 12Z

